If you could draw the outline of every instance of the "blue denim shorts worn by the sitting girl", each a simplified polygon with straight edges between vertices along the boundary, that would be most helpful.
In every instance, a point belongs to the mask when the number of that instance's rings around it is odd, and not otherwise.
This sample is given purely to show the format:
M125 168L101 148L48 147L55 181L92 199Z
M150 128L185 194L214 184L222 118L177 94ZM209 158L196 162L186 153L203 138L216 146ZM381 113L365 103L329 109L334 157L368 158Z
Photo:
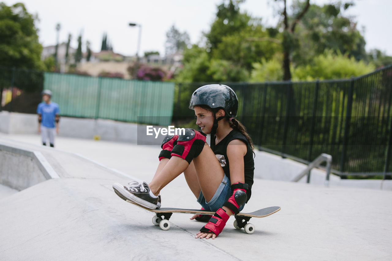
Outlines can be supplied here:
M212 199L209 202L205 201L205 198L201 191L197 202L199 202L201 207L203 207L205 210L216 212L216 210L223 206L223 203L227 202L227 200L231 197L232 194L233 192L231 191L229 178L227 178L227 176L225 175L214 196L212 196ZM241 211L244 206L245 204L240 206L239 210Z

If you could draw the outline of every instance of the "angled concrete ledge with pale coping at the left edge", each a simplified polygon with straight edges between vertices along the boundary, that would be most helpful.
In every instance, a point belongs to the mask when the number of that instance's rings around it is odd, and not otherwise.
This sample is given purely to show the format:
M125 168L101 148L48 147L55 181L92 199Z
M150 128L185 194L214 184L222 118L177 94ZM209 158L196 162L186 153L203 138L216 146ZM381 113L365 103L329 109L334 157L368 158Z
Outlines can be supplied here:
M0 144L0 161L0 183L17 190L24 190L47 179L59 178L38 151Z

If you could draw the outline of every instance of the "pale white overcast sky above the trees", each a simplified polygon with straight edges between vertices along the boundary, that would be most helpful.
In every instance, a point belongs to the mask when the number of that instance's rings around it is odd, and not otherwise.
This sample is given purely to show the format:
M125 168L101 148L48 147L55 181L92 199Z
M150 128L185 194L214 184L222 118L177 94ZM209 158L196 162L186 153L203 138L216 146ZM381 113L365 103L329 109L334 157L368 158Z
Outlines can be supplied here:
M166 33L174 25L181 33L187 32L191 44L198 44L203 32L208 32L214 22L217 6L223 0L0 0L7 5L23 2L27 11L37 14L40 43L56 44L56 24L60 23L60 42L66 42L72 34L71 46L77 47L82 32L85 42L91 42L93 52L99 52L103 33L113 45L113 51L133 56L138 51L138 35L141 30L139 55L146 51L165 53ZM288 4L292 0L287 0ZM310 0L314 4L327 4L336 0ZM380 49L392 56L392 0L354 0L355 6L347 10L364 32L366 50ZM277 4L274 0L246 0L240 10L252 17L262 18L265 25L274 26L278 21ZM141 25L130 27L129 23ZM363 28L364 31L363 31Z

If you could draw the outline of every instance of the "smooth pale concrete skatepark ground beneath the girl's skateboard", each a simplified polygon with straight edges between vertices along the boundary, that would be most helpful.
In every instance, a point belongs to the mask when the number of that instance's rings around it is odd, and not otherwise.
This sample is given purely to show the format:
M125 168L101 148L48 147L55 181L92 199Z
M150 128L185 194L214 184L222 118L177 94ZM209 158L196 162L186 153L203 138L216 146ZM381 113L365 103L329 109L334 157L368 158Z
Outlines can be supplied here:
M41 152L60 176L0 196L0 260L392 259L391 191L255 179L244 211L282 209L252 218L254 234L231 218L216 239L195 239L204 223L191 215L160 230L111 188L149 181L159 147L57 138L52 149L38 135L2 133L0 143ZM198 208L183 176L161 194L163 207Z

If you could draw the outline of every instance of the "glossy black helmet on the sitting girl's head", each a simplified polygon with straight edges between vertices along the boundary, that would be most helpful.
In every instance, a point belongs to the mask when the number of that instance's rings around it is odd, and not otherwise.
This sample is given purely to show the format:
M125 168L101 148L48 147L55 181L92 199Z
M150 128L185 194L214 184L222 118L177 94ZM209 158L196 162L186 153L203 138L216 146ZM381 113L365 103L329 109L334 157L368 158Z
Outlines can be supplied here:
M235 117L238 111L238 98L227 85L209 84L193 92L189 109L193 110L196 105L207 105L212 109L222 107L226 116Z

